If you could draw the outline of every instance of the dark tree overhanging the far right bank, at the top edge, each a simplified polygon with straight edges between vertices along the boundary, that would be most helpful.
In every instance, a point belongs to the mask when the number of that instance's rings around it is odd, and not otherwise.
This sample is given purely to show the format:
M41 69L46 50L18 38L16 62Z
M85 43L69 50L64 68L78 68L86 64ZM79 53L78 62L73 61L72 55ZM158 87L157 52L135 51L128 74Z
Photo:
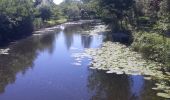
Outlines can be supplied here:
M102 8L102 16L107 18L108 22L114 23L113 28L124 30L124 25L130 16L129 12L133 8L134 0L100 0L99 5ZM127 27L127 26L126 26Z

